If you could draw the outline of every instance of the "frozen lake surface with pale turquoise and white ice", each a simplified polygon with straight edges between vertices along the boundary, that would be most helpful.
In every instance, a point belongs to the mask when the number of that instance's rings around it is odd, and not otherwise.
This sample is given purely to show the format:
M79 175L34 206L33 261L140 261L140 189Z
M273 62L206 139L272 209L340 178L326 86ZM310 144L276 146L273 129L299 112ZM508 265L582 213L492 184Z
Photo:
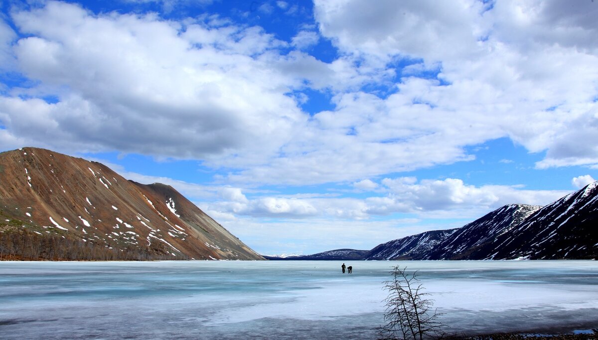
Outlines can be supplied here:
M395 264L452 333L598 327L598 261L0 262L0 339L374 339Z

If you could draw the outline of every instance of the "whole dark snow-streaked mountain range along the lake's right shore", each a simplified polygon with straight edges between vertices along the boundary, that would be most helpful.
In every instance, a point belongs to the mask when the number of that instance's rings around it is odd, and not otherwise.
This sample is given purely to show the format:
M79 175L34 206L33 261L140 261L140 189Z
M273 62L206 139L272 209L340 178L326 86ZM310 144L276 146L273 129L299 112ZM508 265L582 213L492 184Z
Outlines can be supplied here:
M286 259L598 259L597 226L598 181L546 207L505 205L457 229L432 230L377 245L361 258L362 251L345 249Z

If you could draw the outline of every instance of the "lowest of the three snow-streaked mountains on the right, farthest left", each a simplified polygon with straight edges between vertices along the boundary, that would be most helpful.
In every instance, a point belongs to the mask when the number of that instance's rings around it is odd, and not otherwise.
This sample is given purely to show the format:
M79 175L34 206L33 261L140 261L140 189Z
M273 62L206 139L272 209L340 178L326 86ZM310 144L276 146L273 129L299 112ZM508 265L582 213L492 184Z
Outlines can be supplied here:
M420 260L426 257L438 244L451 238L459 229L432 230L380 245L368 253L365 260Z

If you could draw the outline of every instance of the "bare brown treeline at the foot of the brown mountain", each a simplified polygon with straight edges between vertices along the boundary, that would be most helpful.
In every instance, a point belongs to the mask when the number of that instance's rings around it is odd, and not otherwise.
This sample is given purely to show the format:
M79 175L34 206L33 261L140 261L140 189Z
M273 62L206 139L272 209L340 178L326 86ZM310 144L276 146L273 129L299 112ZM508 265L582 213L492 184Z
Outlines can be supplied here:
M57 234L39 235L29 230L0 232L0 260L23 261L148 261L188 260L184 254L173 256L168 245L152 242L151 247L108 248Z

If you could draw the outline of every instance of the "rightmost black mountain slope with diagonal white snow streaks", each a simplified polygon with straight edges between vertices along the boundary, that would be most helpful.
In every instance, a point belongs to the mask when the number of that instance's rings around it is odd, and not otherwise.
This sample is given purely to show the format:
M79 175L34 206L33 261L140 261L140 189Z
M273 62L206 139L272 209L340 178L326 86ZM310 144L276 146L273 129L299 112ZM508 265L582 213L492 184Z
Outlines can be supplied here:
M598 181L534 212L469 259L598 258Z

